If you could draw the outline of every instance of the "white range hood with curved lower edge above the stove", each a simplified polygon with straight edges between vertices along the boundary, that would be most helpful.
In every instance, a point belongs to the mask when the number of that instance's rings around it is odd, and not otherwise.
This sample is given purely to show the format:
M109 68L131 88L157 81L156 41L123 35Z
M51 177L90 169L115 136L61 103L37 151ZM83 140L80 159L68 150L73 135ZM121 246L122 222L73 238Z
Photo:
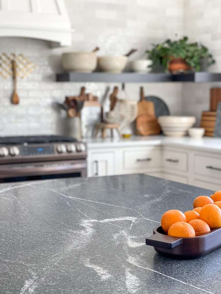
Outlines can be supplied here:
M64 0L0 0L0 37L27 37L51 41L52 46L71 46L72 31Z

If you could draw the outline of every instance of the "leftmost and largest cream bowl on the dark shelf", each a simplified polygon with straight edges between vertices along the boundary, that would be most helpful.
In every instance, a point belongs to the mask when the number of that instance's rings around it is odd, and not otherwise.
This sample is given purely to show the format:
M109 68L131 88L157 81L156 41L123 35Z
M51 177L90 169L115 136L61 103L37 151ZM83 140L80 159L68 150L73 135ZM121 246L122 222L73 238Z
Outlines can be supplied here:
M97 55L95 52L63 53L62 65L65 71L90 73L97 66Z

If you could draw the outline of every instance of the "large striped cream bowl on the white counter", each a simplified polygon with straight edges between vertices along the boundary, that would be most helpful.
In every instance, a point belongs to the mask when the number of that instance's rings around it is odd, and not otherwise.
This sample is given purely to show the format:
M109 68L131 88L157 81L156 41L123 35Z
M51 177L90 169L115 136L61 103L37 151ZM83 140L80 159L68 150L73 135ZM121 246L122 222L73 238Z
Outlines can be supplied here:
M159 116L158 122L166 136L182 137L196 122L194 116Z

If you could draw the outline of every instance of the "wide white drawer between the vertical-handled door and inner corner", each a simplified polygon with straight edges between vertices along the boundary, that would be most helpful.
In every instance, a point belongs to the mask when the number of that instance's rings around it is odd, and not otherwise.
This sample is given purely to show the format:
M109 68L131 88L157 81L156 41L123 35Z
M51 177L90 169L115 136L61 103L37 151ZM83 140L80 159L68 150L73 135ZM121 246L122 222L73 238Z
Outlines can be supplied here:
M139 148L123 151L123 168L146 169L161 166L161 152L158 148Z

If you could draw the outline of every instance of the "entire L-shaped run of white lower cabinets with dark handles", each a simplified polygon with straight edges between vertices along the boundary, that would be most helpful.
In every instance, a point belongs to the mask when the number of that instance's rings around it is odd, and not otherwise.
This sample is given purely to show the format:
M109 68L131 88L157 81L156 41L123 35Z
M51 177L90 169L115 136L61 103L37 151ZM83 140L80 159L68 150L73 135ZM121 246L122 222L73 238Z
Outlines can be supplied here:
M106 145L107 146L107 145ZM200 152L196 148L151 146L88 147L88 176L109 176L144 173L170 181L221 190L221 153Z

